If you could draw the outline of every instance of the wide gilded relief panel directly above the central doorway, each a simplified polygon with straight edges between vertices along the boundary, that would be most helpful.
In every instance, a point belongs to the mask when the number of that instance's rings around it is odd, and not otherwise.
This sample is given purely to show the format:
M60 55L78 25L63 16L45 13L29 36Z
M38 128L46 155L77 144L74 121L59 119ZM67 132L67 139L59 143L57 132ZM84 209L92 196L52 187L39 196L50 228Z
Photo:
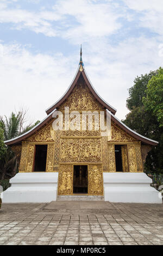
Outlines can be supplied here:
M60 144L61 162L99 162L101 139L63 139Z

